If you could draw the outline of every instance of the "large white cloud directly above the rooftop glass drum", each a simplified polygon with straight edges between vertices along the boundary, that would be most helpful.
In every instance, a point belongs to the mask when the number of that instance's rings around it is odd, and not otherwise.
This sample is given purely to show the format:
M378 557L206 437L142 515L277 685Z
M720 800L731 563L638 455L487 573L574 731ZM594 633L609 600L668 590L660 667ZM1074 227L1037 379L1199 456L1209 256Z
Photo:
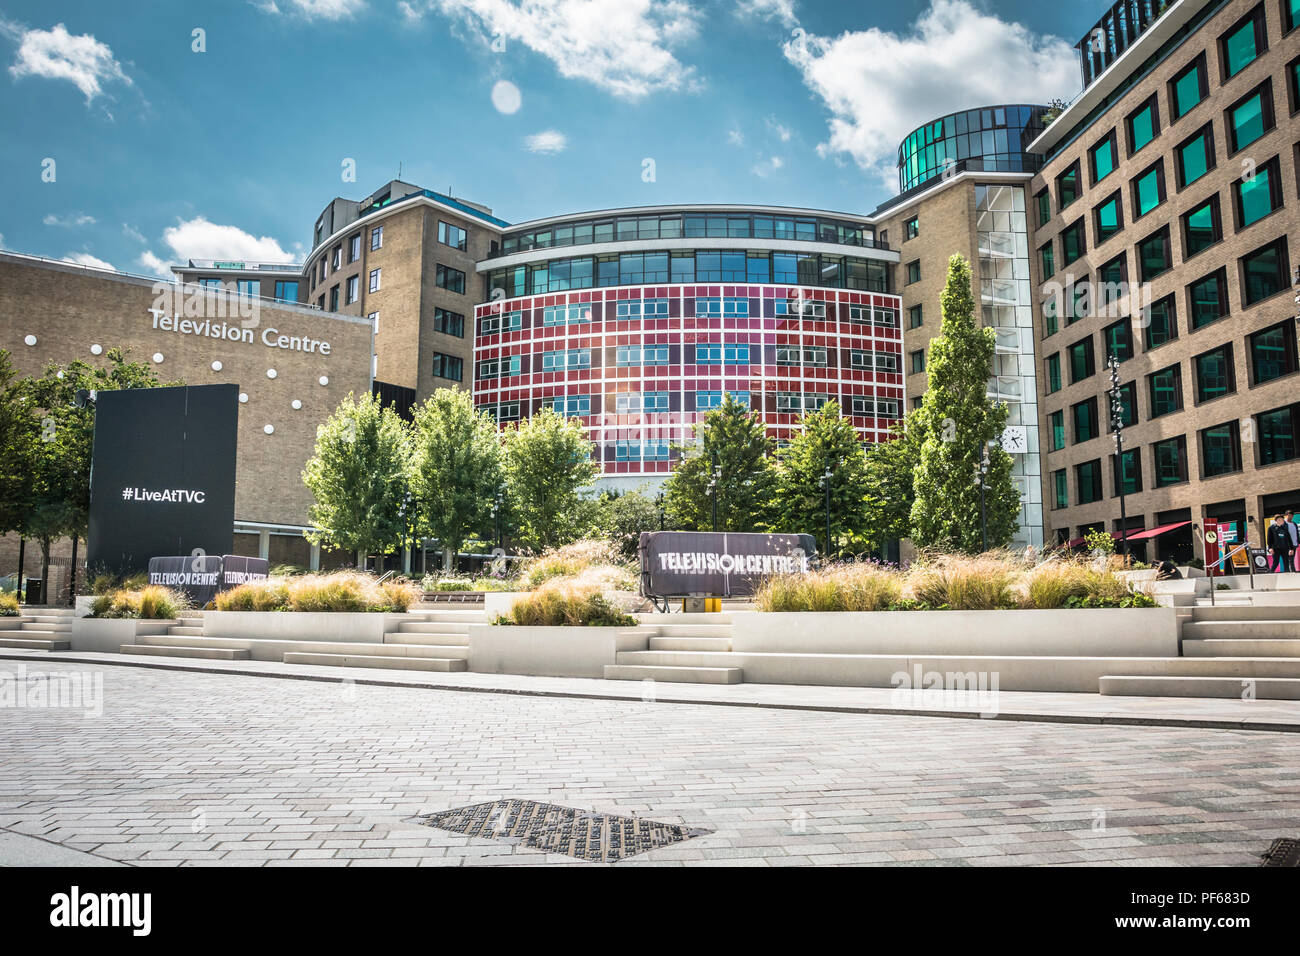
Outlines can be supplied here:
M1079 88L1069 42L1037 36L967 0L932 0L906 34L809 34L783 52L831 111L818 152L845 153L890 183L898 143L919 124L974 107L1070 99Z

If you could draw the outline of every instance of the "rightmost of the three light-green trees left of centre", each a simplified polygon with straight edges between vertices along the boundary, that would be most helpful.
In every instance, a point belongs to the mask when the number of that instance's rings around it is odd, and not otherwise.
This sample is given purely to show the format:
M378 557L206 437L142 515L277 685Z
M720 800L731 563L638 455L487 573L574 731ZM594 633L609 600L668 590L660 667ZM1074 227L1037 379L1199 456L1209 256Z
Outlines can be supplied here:
M506 496L524 542L538 549L572 541L581 525L581 490L601 468L576 419L542 408L506 432Z

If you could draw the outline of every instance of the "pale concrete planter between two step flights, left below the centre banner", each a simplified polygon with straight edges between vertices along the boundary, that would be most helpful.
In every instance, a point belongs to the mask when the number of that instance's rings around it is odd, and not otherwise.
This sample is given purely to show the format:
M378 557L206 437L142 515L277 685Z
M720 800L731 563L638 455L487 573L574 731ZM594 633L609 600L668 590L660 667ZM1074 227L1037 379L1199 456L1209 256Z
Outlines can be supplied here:
M603 678L620 650L645 650L651 631L629 627L471 624L469 670L540 678Z

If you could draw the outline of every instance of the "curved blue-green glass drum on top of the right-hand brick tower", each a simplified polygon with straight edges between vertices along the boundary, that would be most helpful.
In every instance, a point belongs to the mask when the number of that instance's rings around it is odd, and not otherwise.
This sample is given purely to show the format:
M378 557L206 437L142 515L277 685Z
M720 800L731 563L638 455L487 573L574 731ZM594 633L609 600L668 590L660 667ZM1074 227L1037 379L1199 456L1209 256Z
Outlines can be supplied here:
M1037 172L1041 157L1024 147L1043 131L1046 109L1027 104L966 109L916 127L898 147L898 189L906 193L950 168Z

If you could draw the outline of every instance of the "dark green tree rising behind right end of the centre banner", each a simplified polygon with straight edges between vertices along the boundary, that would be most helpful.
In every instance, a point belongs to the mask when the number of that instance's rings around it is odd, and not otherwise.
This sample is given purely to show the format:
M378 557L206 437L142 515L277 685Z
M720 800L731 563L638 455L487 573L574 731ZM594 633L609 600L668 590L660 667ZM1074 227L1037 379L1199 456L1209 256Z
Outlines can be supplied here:
M826 473L829 479L827 509ZM788 447L776 455L777 527L815 535L827 557L863 550L874 540L867 524L867 455L853 423L827 402L800 420ZM827 540L829 514L829 540Z

